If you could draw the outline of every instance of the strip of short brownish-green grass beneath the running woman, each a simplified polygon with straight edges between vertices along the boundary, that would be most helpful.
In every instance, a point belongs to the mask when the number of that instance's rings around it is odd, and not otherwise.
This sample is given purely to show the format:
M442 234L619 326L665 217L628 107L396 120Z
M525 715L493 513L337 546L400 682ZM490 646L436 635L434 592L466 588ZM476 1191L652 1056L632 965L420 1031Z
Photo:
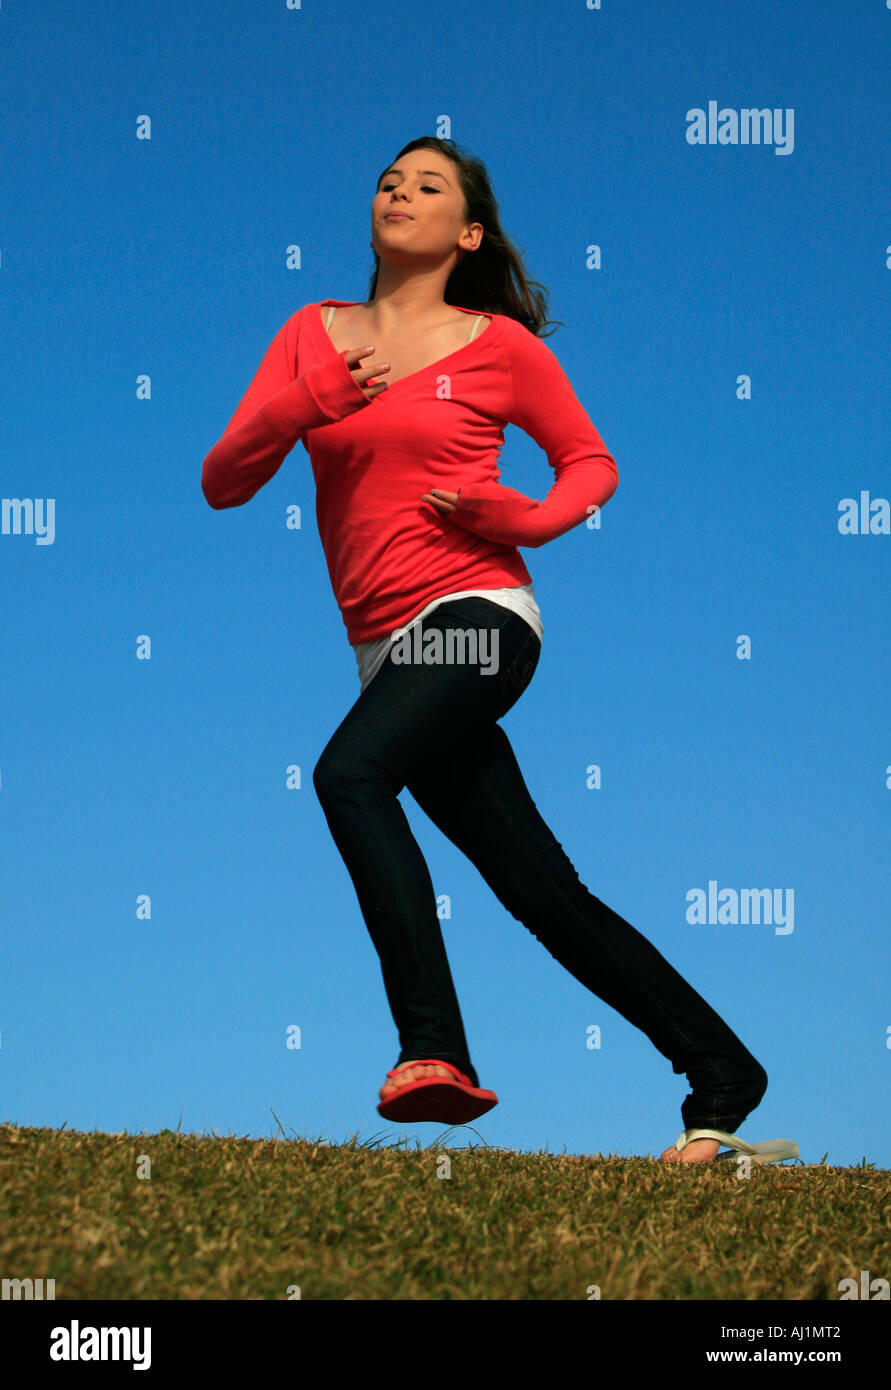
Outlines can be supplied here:
M281 1129L281 1126L279 1126ZM284 1133L284 1131L282 1131ZM0 1276L56 1298L831 1300L891 1175L0 1126ZM475 1131L466 1127L468 1138ZM147 1155L150 1179L139 1179ZM450 1176L441 1176L450 1168Z

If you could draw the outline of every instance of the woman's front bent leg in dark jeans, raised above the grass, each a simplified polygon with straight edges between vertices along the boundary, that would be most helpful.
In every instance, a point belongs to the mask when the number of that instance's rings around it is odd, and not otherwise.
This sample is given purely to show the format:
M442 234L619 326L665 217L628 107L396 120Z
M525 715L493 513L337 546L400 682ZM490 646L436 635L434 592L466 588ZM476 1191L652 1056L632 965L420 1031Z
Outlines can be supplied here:
M506 687L463 664L385 663L335 730L313 771L328 828L353 880L378 952L399 1031L400 1062L441 1058L480 1079L446 958L430 870L399 802L424 767L464 766L461 749L516 699L512 663L524 659L530 628L506 609L461 600L427 627L464 620L498 628ZM528 680L528 674L525 676Z

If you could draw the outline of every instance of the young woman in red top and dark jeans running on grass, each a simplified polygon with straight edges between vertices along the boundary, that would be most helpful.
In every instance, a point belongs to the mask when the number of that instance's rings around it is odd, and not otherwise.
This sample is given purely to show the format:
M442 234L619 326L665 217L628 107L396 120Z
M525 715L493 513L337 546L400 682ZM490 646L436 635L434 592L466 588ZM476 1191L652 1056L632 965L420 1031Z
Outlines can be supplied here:
M602 507L616 461L541 341L545 297L502 232L478 160L450 140L406 145L377 182L371 246L368 300L325 299L288 320L204 459L202 486L210 506L240 506L299 439L310 456L361 681L313 784L399 1031L378 1111L455 1125L498 1102L470 1061L434 885L399 802L407 787L503 906L685 1073L684 1143L662 1158L713 1159L717 1140L691 1130L733 1134L767 1074L580 883L499 724L541 653L517 546L543 545ZM498 481L509 421L548 455L556 480L543 502Z

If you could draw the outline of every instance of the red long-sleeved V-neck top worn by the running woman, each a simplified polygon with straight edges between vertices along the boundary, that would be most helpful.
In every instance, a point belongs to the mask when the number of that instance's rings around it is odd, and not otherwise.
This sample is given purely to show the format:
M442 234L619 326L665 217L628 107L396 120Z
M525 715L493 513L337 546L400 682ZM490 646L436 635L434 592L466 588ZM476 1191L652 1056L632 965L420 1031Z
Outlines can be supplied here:
M242 506L302 439L356 644L407 624L441 594L530 584L517 546L578 525L612 498L619 470L552 350L505 314L368 400L321 317L322 304L353 303L304 304L279 328L204 459L202 489L211 507ZM548 455L556 481L543 502L498 481L509 423ZM459 493L449 516L421 500L432 488Z

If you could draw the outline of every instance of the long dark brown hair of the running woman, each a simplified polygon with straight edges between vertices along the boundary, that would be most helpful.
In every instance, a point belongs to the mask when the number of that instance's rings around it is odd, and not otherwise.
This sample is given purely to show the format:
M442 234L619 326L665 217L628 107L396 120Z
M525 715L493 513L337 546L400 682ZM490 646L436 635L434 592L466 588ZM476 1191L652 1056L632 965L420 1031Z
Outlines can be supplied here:
M548 291L539 281L527 279L520 253L502 231L498 203L482 160L467 154L455 140L443 140L436 135L423 135L418 140L410 140L409 145L403 145L396 158L409 150L435 150L452 160L464 195L464 215L468 222L482 222L484 228L478 249L467 252L446 281L443 291L446 304L475 309L481 314L505 314L507 318L516 318L537 338L550 336L543 334L542 328L546 324L559 324L562 320L548 318ZM385 170L381 171L381 177L384 172ZM378 177L378 183L379 181ZM374 252L368 299L374 299L379 270L381 257Z

